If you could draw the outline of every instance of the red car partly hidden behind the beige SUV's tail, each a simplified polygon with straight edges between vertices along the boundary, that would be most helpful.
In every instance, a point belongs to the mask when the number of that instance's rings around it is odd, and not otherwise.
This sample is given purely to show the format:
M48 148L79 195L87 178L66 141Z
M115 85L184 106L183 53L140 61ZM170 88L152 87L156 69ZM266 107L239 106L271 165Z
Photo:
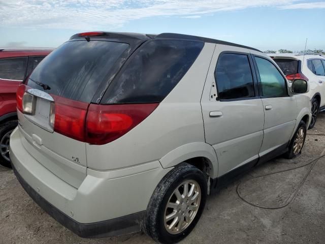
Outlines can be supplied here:
M9 138L17 126L18 85L53 49L0 48L0 164L11 167Z

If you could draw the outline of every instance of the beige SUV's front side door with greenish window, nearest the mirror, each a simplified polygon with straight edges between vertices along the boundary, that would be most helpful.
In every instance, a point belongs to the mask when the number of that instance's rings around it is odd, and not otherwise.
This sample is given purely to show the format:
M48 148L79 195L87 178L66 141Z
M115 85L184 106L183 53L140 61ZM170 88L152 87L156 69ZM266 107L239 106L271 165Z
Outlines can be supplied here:
M297 118L297 102L285 77L267 57L254 55L259 94L265 111L264 139L259 156L287 146Z

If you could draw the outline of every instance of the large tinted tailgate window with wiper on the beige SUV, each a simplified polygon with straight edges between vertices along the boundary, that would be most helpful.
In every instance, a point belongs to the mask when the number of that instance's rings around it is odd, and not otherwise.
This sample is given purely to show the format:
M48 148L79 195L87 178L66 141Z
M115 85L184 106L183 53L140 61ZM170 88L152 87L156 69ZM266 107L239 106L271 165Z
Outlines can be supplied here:
M90 103L128 46L109 41L66 42L42 60L27 85L40 90L47 85L46 93Z

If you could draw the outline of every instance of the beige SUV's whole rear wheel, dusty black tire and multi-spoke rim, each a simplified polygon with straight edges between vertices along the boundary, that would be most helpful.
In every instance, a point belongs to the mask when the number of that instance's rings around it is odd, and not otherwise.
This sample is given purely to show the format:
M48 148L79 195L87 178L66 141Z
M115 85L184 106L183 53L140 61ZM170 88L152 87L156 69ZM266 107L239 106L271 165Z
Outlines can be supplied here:
M187 185L187 189L189 189L185 198L183 196L184 185ZM194 186L193 191L192 186ZM181 194L178 195L178 198L175 194L176 189ZM192 192L192 197L188 197L190 192ZM193 199L196 195L194 202L191 203L190 198ZM144 232L160 243L176 243L182 240L198 223L205 206L206 197L207 181L203 172L190 164L179 164L159 182L151 196L143 222ZM178 199L181 200L178 201ZM167 208L167 204L170 202L175 202L176 205L177 202L179 203L177 206L174 204L173 208ZM190 210L194 208L196 210ZM165 223L165 217L169 215L177 217ZM179 218L179 221L183 219L183 229L180 228L180 222L177 220L175 227L169 228L172 227L176 218Z

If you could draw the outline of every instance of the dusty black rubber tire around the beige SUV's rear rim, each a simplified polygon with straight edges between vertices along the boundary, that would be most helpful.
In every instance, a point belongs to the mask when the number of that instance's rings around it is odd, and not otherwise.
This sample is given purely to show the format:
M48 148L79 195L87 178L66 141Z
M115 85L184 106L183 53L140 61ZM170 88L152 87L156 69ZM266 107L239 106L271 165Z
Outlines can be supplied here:
M200 185L201 202L190 224L182 232L171 234L165 227L165 209L171 196L173 196L174 190L180 189L179 186L186 180L194 180ZM207 181L203 172L187 163L179 164L159 182L151 196L143 222L144 232L160 243L176 243L182 240L198 223L205 206L206 197Z

